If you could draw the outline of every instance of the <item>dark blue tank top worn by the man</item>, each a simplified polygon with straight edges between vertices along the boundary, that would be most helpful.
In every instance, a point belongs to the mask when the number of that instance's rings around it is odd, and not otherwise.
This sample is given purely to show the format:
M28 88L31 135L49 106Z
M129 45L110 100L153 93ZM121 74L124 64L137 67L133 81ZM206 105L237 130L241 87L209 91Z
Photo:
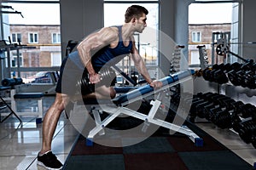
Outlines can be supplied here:
M110 48L109 45L102 48L92 56L91 63L94 67L102 67L103 65L116 65L126 55L131 53L132 42L125 47L122 38L122 26L117 26L119 29L119 42L115 48Z

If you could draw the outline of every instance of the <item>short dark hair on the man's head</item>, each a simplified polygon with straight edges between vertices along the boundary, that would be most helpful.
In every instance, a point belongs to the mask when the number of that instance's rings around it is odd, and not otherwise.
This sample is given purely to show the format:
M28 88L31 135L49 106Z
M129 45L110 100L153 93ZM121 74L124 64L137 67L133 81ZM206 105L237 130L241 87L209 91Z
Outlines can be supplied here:
M133 17L138 19L143 16L143 14L148 14L147 8L140 5L131 5L125 12L125 23L130 22Z

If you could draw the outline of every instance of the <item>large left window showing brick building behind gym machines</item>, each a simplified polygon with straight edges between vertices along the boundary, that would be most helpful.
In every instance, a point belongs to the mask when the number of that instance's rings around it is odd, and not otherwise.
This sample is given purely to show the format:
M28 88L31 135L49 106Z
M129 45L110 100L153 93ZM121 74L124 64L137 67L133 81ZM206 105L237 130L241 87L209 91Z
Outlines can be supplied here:
M39 71L58 71L61 65L58 62L61 58L60 1L3 0L1 5L14 8L14 10L9 10L11 12L16 11L15 13L1 14L3 40L8 40L10 36L12 42L16 43L20 36L20 38L22 37L21 44L32 48L19 49L20 56L22 56L19 63L20 68L17 61L14 61L16 66L9 69L8 59L3 60L6 66L3 67L2 75L0 72L0 77L10 77L12 72L16 71L16 76L21 77L23 82L30 82L30 77L35 77ZM53 38L54 33L55 38ZM11 51L10 59L15 60L13 52L15 50ZM56 54L52 57L51 53Z

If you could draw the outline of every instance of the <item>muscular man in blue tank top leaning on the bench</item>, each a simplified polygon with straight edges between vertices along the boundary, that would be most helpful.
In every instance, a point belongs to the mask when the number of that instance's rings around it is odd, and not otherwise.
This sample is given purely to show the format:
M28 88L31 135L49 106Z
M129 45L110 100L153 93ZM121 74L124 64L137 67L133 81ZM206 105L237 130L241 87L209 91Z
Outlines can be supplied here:
M79 78L81 78L75 76L79 75L79 73L75 74L76 71L81 71L79 68L85 68L84 72L89 75L90 86L96 85L101 82L101 76L98 74L98 71L100 71L106 63L114 65L120 60L119 56L124 57L130 54L131 59L133 59L137 67L137 71L142 74L145 81L153 88L160 88L162 86L161 82L153 82L149 77L148 70L142 57L138 54L134 42L134 33L142 33L147 26L147 14L148 10L146 8L132 5L127 8L125 12L125 24L123 26L104 27L100 31L90 34L79 43L77 51L69 54L68 57L63 60L60 79L56 87L55 102L50 106L49 111L47 111L44 116L43 144L42 149L38 153L38 165L50 169L61 169L62 167L61 162L58 161L56 156L51 152L51 141L61 112L65 109L67 102L72 99L72 94L74 94L73 87ZM74 67L77 68L76 71L73 69ZM65 71L72 72L72 74L65 74ZM64 74L65 76L63 76ZM63 78L69 80L65 82L67 88L61 84L63 83ZM98 88L90 88L90 90L82 94L83 97L108 99L115 97L113 87L107 85L102 85Z

